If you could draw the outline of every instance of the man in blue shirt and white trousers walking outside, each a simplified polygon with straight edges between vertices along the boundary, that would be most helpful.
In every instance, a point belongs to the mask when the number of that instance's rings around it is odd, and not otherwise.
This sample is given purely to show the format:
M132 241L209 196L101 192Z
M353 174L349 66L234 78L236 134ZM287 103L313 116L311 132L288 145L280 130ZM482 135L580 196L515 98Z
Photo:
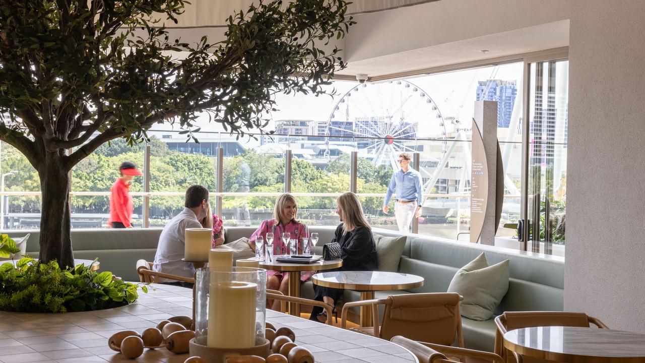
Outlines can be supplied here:
M403 152L399 155L401 169L392 174L392 180L385 193L383 212L388 213L388 204L392 194L397 195L394 204L394 215L397 218L399 231L408 232L412 218L421 216L421 202L423 189L421 187L421 174L410 167L410 154Z

